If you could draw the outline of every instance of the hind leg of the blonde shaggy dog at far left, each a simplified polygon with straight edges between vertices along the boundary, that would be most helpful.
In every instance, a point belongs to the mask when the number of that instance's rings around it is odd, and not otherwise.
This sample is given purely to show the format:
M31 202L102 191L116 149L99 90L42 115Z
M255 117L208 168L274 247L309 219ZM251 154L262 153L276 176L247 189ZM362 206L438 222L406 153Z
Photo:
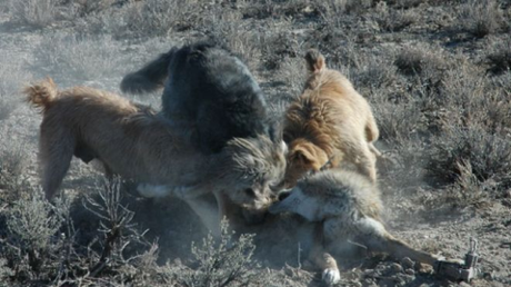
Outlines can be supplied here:
M74 138L70 132L56 132L56 127L41 125L41 137L39 142L39 160L42 172L42 189L48 200L53 198L57 189L68 172L74 152Z

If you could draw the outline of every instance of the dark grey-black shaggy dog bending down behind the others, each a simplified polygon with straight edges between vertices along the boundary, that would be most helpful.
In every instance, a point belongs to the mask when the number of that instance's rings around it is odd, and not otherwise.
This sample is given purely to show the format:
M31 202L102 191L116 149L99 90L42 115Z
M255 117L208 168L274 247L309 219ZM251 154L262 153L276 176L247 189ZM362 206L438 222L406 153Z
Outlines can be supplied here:
M164 83L162 112L190 123L204 154L229 139L265 133L275 139L268 106L247 66L230 51L208 42L172 48L121 82L124 92L152 91Z

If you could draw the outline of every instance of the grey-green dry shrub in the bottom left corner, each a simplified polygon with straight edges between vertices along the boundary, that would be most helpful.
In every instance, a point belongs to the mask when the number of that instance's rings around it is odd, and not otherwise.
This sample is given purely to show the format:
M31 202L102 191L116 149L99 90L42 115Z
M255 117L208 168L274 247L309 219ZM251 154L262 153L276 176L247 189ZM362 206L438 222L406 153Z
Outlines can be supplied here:
M17 281L52 280L64 243L58 234L63 222L61 210L43 198L42 190L31 190L8 210L1 250Z

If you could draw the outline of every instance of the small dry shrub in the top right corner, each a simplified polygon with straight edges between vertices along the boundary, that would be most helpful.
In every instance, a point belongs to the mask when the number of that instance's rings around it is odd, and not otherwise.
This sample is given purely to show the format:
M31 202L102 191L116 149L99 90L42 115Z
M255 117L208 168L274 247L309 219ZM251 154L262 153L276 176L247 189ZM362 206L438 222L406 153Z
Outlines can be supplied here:
M507 29L497 0L469 0L461 6L459 19L463 29L478 38Z

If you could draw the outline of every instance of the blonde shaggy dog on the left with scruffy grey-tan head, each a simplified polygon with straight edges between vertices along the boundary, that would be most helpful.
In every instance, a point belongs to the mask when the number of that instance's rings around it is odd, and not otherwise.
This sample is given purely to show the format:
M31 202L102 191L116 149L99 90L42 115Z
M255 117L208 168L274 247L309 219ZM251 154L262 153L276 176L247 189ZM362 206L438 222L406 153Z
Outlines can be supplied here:
M248 210L249 217L263 212L272 200L270 185L283 177L281 139L234 138L220 152L203 155L190 145L189 127L114 93L86 87L60 91L51 79L24 93L43 115L39 159L48 199L73 155L86 162L100 160L108 174L144 182L139 191L149 197L193 200L213 192L221 217L224 198Z

